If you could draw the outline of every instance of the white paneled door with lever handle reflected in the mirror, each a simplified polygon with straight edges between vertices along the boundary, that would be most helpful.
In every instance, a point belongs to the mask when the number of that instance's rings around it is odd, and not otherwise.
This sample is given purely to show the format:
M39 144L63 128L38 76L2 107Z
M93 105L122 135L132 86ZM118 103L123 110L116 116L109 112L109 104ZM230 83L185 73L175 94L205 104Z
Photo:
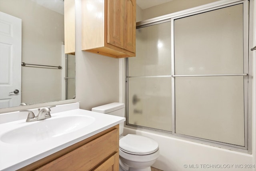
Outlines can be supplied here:
M21 19L0 12L0 108L20 105Z

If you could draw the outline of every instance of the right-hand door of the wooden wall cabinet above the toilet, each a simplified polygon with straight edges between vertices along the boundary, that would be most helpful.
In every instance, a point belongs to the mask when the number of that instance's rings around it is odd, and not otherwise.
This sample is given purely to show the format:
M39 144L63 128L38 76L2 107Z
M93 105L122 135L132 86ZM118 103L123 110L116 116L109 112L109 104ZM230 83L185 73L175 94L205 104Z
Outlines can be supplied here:
M124 0L124 49L136 49L136 1Z

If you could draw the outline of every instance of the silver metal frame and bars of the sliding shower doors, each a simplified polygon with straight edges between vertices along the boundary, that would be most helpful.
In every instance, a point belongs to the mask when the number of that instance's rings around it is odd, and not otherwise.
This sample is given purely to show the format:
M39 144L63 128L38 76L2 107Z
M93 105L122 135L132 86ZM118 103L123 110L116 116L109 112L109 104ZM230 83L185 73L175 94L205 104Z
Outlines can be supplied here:
M189 141L194 141L194 142L198 142L198 143L204 143L206 145L213 145L216 147L222 147L224 149L231 149L234 151L240 151L243 153L252 153L252 125L251 123L248 123L248 118L251 118L252 116L252 97L248 96L248 92L252 92L252 66L250 65L250 63L252 64L252 52L248 52L249 50L249 45L253 44L252 43L252 38L249 39L248 41L248 37L249 34L252 34L252 31L249 33L248 32L248 22L250 19L250 22L252 22L253 18L252 17L248 17L248 2L249 0L223 0L221 2L213 2L210 4L206 4L203 6L199 6L199 7L195 7L195 8L191 8L188 10L183 10L180 12L175 12L172 14L167 14L164 16L160 16L160 17L156 17L156 18L152 18L149 20L145 20L145 21L141 21L141 22L137 22L136 23L136 29L138 28L143 28L143 27L147 27L147 26L152 26L155 24L161 24L164 22L169 22L171 21L171 65L172 65L172 73L170 76L164 76L164 77L172 77L172 132L170 131L164 131L164 130L159 130L159 129L154 129L154 128L149 128L149 127L143 127L143 126L139 126L139 125L132 125L128 123L128 78L133 78L132 76L128 76L128 58L126 58L126 125L128 126L132 126L132 127L138 127L138 128L142 128L142 129L150 129L153 131L157 131L157 132L162 132L164 135L168 135L168 136L173 136L173 137L178 137L181 139L185 139L185 140L189 140ZM187 135L180 135L175 133L175 94L174 94L174 83L175 80L174 78L177 76L183 76L186 77L185 75L175 75L174 74L174 20L178 19L178 18L183 18L186 16L191 16L191 15L195 15L195 14L200 14L203 12L208 12L208 11L212 11L212 10L216 10L216 9L220 9L220 8L225 8L228 6L232 6L232 5L237 5L237 4L243 4L243 14L244 14L244 56L247 56L246 59L244 59L244 73L243 74L216 74L218 76L244 76L244 135L245 135L245 147L239 146L239 145L232 145L232 144L228 144L228 143L222 143L222 142L218 142L218 141L212 141L212 140L208 140L208 139L203 139L203 138L197 138L197 137L191 137L191 136L187 136ZM252 5L249 6L250 8L250 12L251 15L253 14L253 7ZM245 15L246 14L246 15ZM251 29L252 30L252 29ZM252 37L252 36L251 36ZM250 37L249 37L250 38ZM250 65L250 67L249 67ZM207 76L216 76L214 75L207 75ZM206 76L206 75L194 75L194 76ZM137 78L151 78L151 77L163 77L163 76L137 76ZM250 103L249 100L250 99ZM168 133L168 134L166 134Z

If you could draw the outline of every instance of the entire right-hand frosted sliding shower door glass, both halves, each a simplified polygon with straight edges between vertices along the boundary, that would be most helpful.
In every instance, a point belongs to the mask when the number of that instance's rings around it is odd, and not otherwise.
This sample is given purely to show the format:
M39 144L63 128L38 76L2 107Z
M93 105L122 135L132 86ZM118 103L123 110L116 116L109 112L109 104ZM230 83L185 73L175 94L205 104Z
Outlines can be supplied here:
M176 134L245 146L244 7L174 18Z

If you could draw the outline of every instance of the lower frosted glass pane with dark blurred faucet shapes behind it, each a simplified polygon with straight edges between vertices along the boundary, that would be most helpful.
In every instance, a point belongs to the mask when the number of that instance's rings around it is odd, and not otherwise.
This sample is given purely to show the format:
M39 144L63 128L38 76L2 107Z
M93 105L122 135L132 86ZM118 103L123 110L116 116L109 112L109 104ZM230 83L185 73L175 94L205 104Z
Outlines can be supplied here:
M171 78L129 78L128 86L128 123L172 131Z

